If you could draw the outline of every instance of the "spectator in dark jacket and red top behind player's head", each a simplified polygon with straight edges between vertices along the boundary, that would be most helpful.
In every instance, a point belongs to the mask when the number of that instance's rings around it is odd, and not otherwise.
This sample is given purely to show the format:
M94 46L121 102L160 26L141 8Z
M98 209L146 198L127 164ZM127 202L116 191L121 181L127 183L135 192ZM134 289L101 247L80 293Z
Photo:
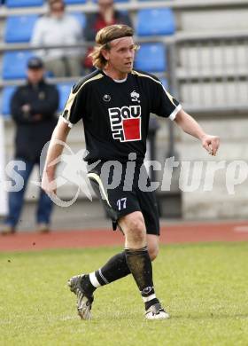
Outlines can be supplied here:
M90 13L86 20L86 27L84 29L84 38L86 41L95 41L97 31L108 25L126 24L132 27L128 13L116 11L113 0L98 0L97 4L98 12ZM89 70L93 69L91 58L89 58L89 53L92 50L92 48L89 48L84 59L84 67Z

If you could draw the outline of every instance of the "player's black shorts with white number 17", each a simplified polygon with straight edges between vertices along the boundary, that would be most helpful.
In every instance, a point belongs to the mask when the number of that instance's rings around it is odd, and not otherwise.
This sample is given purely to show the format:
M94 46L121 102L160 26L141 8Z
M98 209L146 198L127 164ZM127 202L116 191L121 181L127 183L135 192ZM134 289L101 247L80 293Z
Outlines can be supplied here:
M139 188L138 179L141 165L138 165L136 168L134 178L128 181L128 179L125 178L127 177L127 164L121 164L122 171L119 171L120 184L117 186L111 186L111 183L113 174L114 172L116 173L118 169L116 169L116 167L113 169L113 167L109 165L108 167L111 169L106 169L107 177L105 177L105 167L103 169L103 166L104 163L99 163L97 168L92 169L88 173L88 177L94 192L97 194L100 201L102 201L107 215L112 219L113 230L116 230L118 220L121 216L126 216L135 211L141 211L147 234L159 235L159 210L155 193L142 191ZM149 185L150 179L143 167L143 172L144 171L146 175L145 181L147 181Z

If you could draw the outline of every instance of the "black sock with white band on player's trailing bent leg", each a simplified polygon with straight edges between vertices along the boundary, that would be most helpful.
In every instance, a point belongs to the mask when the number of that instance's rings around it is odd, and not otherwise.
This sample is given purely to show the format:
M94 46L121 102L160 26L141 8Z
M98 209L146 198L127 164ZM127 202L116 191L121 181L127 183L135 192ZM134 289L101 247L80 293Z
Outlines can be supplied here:
M115 280L124 278L130 274L125 252L120 252L109 259L105 265L97 271L85 275L81 287L89 295L92 295L97 287L105 286Z

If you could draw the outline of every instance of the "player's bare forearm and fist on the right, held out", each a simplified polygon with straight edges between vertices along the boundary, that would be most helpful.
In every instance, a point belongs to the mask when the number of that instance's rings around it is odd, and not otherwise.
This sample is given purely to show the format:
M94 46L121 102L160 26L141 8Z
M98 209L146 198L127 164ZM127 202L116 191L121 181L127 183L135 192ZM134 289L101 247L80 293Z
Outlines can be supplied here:
M176 114L174 122L176 122L184 132L198 138L209 154L216 155L220 146L220 138L218 136L206 134L198 122L196 122L190 114L184 112L183 109Z

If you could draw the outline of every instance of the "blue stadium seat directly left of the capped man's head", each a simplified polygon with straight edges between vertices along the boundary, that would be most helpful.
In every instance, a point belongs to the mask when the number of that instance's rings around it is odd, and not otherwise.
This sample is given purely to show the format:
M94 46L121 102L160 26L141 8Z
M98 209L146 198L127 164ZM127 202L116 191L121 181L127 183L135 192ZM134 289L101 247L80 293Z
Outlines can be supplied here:
M32 51L6 51L3 56L3 78L26 78L27 60L32 56Z

